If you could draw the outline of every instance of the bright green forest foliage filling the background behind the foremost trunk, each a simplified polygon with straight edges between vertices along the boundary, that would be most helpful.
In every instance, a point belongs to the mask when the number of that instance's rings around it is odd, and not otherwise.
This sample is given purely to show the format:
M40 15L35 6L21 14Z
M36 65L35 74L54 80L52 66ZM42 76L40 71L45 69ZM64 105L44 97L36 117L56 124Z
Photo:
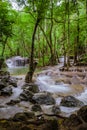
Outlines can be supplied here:
M51 3L52 2L52 3ZM39 65L49 63L50 49L46 40L50 38L51 22L52 26L52 50L58 56L78 55L86 53L87 46L87 14L86 0L71 0L69 3L70 15L70 47L68 46L68 1L65 0L17 0L18 6L23 9L13 10L8 2L0 1L0 54L3 50L3 43L8 37L5 46L5 57L13 55L30 56L31 40L35 21L41 20L39 29L35 36L35 58L39 58ZM53 4L53 8L52 8ZM25 6L26 5L26 6ZM53 16L51 11L53 9ZM79 12L79 16L78 16ZM79 22L79 43L77 43ZM46 37L44 36L42 27ZM64 30L65 29L65 30ZM76 46L77 44L77 46ZM65 49L64 49L65 46ZM75 48L76 47L76 48ZM44 53L44 54L43 54ZM44 58L43 58L44 57Z

